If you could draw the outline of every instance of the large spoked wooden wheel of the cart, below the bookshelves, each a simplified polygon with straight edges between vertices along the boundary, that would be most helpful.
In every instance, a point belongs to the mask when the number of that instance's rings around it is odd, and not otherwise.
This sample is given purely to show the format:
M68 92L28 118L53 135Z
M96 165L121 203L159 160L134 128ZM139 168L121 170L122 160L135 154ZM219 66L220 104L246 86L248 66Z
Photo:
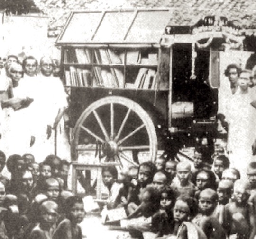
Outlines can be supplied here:
M121 96L101 98L83 111L74 128L75 158L79 150L88 149L97 150L103 162L114 161L121 166L123 162L137 165L140 153L146 153L146 160L155 161L155 126L136 102Z

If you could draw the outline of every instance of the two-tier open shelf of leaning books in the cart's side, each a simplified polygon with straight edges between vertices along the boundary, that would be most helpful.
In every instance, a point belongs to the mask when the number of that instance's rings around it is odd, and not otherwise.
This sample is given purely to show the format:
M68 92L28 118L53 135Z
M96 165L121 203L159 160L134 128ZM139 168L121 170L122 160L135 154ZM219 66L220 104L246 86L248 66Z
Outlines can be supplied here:
M64 48L67 87L157 87L158 49Z

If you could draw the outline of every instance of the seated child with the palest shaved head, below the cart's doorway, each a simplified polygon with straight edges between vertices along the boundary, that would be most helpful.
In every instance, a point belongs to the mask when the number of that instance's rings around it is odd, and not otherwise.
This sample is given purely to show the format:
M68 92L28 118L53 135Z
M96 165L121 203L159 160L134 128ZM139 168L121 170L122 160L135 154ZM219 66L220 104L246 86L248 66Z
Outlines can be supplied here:
M171 188L174 191L175 197L191 196L195 194L195 186L190 182L191 165L189 162L183 161L177 164L177 179L173 180Z

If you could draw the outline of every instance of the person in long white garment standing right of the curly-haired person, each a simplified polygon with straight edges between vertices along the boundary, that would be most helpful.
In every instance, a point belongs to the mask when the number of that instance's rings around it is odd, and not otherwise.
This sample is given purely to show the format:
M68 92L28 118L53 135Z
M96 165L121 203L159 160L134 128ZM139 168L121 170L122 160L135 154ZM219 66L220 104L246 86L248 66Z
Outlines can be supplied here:
M255 94L250 85L251 72L242 70L238 79L238 89L230 98L226 120L229 123L228 152L230 167L240 171L246 179L246 170L252 160L251 145L256 137L256 110L251 105Z

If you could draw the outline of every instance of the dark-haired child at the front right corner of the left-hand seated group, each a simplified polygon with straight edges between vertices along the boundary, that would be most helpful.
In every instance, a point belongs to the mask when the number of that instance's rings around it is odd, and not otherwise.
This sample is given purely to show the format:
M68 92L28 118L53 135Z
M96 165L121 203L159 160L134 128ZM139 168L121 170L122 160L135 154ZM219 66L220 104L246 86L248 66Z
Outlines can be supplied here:
M82 239L82 230L78 225L85 215L82 198L68 197L64 209L66 218L57 226L53 239Z

